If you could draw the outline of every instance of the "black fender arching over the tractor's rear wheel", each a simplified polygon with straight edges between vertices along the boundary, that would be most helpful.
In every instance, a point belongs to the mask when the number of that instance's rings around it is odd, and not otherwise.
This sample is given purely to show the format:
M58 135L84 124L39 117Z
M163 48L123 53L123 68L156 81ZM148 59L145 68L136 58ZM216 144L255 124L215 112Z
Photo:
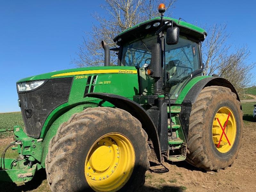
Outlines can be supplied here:
M204 76L205 77L205 76ZM189 86L187 84L187 86ZM225 78L222 77L206 77L196 82L187 92L185 98L181 103L180 111L180 124L184 132L186 141L188 142L188 129L189 129L189 117L192 109L192 105L196 102L199 93L208 86L222 86L229 88L232 92L236 93L236 99L240 101L235 87ZM185 89L185 88L184 88ZM242 107L241 107L242 109Z

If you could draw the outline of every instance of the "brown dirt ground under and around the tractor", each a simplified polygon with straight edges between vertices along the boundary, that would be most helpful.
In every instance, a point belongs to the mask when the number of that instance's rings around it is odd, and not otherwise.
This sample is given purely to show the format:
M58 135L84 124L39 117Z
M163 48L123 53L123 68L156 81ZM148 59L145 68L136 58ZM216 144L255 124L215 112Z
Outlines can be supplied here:
M252 105L248 104L248 106ZM168 162L159 166L151 166L146 172L145 185L139 192L233 192L256 191L256 122L253 121L248 110L244 114L244 138L238 157L231 167L220 172L205 172L186 162ZM0 139L0 148L8 145L12 138ZM3 150L3 149L2 149ZM12 152L11 152L12 153ZM1 183L1 192L26 191L50 192L46 173L40 170L35 178L26 185L16 186L13 183Z

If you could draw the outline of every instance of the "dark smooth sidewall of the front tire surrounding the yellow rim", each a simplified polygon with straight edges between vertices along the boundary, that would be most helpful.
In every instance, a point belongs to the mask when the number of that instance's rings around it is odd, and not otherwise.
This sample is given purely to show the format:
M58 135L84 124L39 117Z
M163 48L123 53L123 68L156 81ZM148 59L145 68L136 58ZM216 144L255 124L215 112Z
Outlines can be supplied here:
M124 185L119 191L130 191L132 188L137 185L135 179L144 177L145 174L145 162L144 158L147 158L147 148L145 146L145 138L141 132L138 132L141 128L141 125L133 125L132 122L129 123L127 120L122 120L122 124L115 119L111 120L111 123L108 121L100 121L97 124L92 125L79 125L88 127L85 132L78 133L79 136L76 141L76 148L70 154L72 159L76 159L76 162L70 162L73 164L69 167L69 171L75 173L73 178L76 180L75 183L71 183L72 188L76 191L93 191L92 188L88 185L85 173L84 173L84 164L86 156L92 147L92 145L102 136L108 133L120 133L126 136L132 143L135 151L135 165L132 172L132 175L128 182ZM134 132L131 131L131 127L137 126L137 129ZM95 129L97 127L97 129Z

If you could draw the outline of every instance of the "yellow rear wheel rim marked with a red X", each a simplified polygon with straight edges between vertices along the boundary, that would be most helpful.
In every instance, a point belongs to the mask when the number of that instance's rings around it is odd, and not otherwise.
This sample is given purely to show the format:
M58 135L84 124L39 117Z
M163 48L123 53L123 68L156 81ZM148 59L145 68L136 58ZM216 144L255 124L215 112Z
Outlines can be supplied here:
M212 124L213 143L218 151L227 153L232 148L235 139L236 119L234 113L228 107L221 107L216 113Z

